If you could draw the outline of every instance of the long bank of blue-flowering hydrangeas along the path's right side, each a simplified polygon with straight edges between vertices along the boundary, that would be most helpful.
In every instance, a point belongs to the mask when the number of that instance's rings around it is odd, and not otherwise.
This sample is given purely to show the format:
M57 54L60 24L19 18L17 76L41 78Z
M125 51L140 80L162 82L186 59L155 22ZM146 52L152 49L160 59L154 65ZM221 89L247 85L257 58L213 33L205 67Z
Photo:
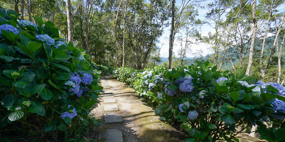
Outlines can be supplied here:
M258 126L261 139L284 141L285 87L245 75L243 69L217 71L209 61L189 67L154 67L143 72L119 68L138 94L157 109L161 120L187 123L186 141L239 141L243 130ZM126 71L126 73L125 73ZM117 74L117 75L116 75ZM265 123L264 123L265 122ZM273 123L267 128L266 123Z

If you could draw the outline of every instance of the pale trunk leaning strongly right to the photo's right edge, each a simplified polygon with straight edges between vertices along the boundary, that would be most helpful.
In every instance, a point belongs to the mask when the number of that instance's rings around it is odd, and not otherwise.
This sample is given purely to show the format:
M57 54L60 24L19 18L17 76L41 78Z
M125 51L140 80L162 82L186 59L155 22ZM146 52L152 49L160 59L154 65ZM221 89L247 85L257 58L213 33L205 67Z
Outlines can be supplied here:
M277 28L276 28L277 32L276 32L276 36L275 36L275 39L274 39L274 42L273 42L271 54L270 54L270 56L269 56L269 59L268 59L268 61L267 61L267 64L265 65L265 67L264 67L263 69L260 69L260 72L261 72L261 79L265 76L266 69L268 68L268 66L269 66L269 64L270 64L270 62L271 62L271 60L272 60L272 57L273 57L273 55L274 55L274 53L275 53L275 48L276 48L276 44L277 44L277 41L278 41L278 36L279 36L279 33L280 33L280 31L281 31L281 28L282 28L282 26L283 26L283 24L284 24L284 19L285 19L285 13L284 13L283 16L282 16L282 20L281 20L281 22L280 22L280 25L279 25L279 27L278 27L278 30L277 30Z

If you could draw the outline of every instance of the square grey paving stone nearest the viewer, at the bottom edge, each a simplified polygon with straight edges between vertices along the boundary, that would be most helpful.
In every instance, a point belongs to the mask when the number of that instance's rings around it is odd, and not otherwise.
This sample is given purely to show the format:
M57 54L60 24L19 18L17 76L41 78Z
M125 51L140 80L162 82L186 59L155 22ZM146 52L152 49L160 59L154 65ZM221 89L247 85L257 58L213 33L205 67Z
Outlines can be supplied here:
M107 129L104 133L99 133L99 139L105 138L105 142L123 142L122 131L117 129Z

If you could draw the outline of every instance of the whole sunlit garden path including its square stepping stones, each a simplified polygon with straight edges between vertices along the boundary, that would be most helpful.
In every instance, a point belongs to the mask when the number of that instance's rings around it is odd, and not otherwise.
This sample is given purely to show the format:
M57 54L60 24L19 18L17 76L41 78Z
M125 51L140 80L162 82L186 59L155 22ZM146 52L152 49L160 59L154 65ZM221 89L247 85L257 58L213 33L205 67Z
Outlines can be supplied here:
M91 111L105 123L99 125L98 142L184 141L187 137L169 124L161 122L154 110L139 98L135 90L112 76L101 77L98 106Z

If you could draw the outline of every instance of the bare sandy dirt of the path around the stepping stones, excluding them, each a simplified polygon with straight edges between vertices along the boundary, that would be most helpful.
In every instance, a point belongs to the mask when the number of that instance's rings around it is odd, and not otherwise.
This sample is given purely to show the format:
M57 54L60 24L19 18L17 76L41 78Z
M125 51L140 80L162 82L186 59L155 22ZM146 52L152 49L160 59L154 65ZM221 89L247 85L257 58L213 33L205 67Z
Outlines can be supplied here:
M111 76L105 77L105 83L108 83L109 89L104 91L112 91L117 102L119 111L111 111L109 113L119 114L123 118L123 122L115 124L103 123L99 126L99 133L105 132L107 129L118 129L122 131L123 141L183 141L185 135L177 131L170 125L161 122L159 116L154 114L152 108L145 106L138 98L135 90L127 87ZM118 90L114 90L114 89ZM104 120L104 114L108 113L103 110L103 95L100 96L100 104L91 111L95 118ZM112 103L108 103L112 104ZM104 141L103 139L99 141Z

